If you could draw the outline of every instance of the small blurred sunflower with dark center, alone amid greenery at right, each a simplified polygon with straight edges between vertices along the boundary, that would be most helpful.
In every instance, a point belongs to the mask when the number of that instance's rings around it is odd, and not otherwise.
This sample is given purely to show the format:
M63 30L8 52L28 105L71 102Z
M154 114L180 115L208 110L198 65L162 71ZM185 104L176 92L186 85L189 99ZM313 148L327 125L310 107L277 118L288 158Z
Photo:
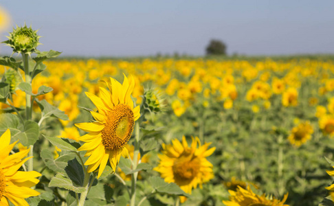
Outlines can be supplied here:
M291 134L289 135L288 139L291 144L295 146L301 146L308 139L311 139L312 134L313 128L310 122L302 122L298 124L298 126L292 128Z

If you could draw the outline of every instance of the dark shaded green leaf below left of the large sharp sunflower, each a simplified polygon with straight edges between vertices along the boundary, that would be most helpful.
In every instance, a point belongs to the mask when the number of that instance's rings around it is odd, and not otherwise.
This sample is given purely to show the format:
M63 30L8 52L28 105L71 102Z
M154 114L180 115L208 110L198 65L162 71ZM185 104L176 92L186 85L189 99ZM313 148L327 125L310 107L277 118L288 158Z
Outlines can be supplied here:
M82 170L82 165L76 159L72 159L67 162L67 167L65 172L69 179L74 182L76 185L83 185L84 182L84 171Z

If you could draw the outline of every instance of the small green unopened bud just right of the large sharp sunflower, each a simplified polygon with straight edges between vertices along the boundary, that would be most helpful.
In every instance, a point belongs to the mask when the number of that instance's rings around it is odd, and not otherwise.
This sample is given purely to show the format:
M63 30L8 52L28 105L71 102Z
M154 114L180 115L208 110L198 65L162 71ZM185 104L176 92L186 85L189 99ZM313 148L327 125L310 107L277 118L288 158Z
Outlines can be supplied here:
M159 113L166 107L161 93L158 93L155 89L146 89L144 91L144 100L144 108L151 111L151 113Z

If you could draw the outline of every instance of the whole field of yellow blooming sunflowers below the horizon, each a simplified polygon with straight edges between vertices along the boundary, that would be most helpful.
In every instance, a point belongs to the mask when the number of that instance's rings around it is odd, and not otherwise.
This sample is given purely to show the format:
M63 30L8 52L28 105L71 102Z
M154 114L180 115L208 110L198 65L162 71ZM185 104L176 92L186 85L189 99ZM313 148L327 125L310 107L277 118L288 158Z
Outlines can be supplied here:
M0 205L333 205L333 56L62 58L39 38L3 42Z

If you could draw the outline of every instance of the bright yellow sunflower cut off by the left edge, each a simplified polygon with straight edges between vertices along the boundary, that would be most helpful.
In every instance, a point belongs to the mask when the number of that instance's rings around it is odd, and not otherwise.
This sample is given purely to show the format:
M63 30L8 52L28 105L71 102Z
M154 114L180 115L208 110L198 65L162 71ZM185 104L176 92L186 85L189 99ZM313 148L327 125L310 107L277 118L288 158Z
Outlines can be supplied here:
M41 176L35 171L23 172L17 171L25 161L32 157L27 157L30 148L9 155L17 141L10 144L10 130L6 130L0 137L0 205L9 205L9 201L14 205L28 205L25 198L38 196L40 193L30 189L36 185L39 180L36 177Z

